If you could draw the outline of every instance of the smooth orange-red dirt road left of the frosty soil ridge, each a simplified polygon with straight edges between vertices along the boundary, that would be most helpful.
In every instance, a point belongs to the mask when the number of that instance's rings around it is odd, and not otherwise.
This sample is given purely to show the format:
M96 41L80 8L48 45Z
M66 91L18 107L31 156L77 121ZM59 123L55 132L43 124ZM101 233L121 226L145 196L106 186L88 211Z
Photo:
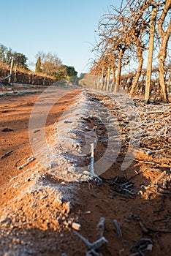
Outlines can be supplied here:
M61 113L73 104L75 96L80 90L67 91L65 98L58 100L53 105L47 117L46 129L50 131L53 124L58 121ZM1 159L0 163L0 184L1 188L6 187L11 178L18 176L22 170L18 166L26 162L32 156L32 150L28 138L28 123L31 110L39 97L38 94L22 96L2 97L0 102L0 156L9 153L9 156ZM45 105L47 102L45 102ZM0 191L2 192L3 189ZM4 203L6 195L0 197L0 202Z

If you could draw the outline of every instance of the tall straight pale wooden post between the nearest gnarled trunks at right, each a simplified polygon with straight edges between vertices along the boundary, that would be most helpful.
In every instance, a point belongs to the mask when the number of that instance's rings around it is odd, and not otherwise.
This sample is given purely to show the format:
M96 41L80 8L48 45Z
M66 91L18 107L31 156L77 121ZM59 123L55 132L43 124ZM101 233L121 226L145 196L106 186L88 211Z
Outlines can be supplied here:
M156 26L156 6L153 5L151 12L151 29L150 29L150 39L149 39L149 50L148 50L148 67L147 67L147 76L145 84L145 100L148 101L150 97L150 86L151 86L151 70L152 70L152 61L153 61L153 39L155 34Z

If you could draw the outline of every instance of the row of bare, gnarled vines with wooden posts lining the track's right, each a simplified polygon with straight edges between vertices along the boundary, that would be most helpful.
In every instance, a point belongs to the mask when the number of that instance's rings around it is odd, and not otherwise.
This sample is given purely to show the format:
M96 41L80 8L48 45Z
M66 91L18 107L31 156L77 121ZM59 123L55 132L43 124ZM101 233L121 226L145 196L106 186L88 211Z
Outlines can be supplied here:
M99 20L96 31L99 39L93 49L96 59L91 74L98 77L99 88L109 89L109 80L113 74L113 88L110 86L110 90L118 92L123 69L129 65L136 67L134 77L129 80L129 91L133 95L138 91L145 59L153 59L154 56L154 59L158 59L159 94L162 101L168 102L171 75L168 51L171 34L170 9L170 0L122 0L120 7L108 8L108 12ZM148 65L147 78L152 70L149 67ZM149 86L151 81L149 85L145 84L147 100L150 97Z

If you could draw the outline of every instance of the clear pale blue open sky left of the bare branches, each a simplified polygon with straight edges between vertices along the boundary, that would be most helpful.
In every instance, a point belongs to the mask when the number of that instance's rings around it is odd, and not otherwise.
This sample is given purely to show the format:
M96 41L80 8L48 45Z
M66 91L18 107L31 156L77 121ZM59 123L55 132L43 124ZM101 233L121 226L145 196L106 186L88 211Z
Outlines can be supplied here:
M93 57L99 19L117 0L6 0L1 1L0 43L24 53L35 63L39 50L57 53L77 72L88 70Z

